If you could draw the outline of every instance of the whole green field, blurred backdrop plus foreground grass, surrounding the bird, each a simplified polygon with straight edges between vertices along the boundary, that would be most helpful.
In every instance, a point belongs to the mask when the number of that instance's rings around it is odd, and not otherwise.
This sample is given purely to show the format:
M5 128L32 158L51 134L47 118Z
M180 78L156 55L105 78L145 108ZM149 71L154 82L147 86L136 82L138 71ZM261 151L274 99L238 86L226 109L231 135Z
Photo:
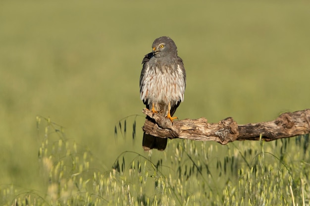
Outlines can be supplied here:
M305 0L1 1L0 205L310 205L309 136L149 154L139 94L143 56L169 36L179 119L310 108L309 25Z

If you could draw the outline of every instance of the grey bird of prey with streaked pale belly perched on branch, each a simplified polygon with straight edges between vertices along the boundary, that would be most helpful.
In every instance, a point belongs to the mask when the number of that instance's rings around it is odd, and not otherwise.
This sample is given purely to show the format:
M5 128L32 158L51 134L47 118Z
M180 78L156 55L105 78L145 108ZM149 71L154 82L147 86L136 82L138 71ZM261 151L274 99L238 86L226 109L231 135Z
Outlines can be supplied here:
M147 109L162 115L171 122L177 107L184 100L186 71L183 60L178 56L174 41L166 36L155 39L152 52L144 56L140 75L140 97ZM145 151L163 151L167 138L143 134Z

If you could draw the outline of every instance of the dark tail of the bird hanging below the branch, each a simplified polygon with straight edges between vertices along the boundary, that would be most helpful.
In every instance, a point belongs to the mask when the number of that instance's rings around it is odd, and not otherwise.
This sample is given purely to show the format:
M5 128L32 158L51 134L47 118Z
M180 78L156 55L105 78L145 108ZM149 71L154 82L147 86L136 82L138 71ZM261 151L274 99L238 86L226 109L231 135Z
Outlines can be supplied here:
M151 150L151 149L157 149L160 151L165 150L167 146L168 138L160 138L155 137L150 134L143 133L143 142L142 146L145 151Z

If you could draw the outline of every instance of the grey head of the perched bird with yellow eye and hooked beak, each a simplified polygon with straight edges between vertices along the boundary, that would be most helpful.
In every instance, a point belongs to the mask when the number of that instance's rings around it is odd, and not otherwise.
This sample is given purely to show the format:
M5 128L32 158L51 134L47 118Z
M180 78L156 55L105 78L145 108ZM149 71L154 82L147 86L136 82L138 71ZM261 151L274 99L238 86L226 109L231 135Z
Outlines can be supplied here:
M152 45L153 54L156 58L165 56L177 56L177 47L169 37L159 37Z

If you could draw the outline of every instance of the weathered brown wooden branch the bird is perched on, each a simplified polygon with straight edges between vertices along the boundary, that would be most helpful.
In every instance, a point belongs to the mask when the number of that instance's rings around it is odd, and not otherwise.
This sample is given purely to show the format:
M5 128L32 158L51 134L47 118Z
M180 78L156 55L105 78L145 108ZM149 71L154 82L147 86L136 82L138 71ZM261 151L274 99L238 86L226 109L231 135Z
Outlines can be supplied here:
M148 109L143 113L150 117L146 119L143 131L161 138L216 141L224 145L236 140L259 140L260 134L262 140L272 141L310 133L310 109L283 113L273 121L254 124L237 124L231 117L219 123L207 123L205 118L171 123Z

